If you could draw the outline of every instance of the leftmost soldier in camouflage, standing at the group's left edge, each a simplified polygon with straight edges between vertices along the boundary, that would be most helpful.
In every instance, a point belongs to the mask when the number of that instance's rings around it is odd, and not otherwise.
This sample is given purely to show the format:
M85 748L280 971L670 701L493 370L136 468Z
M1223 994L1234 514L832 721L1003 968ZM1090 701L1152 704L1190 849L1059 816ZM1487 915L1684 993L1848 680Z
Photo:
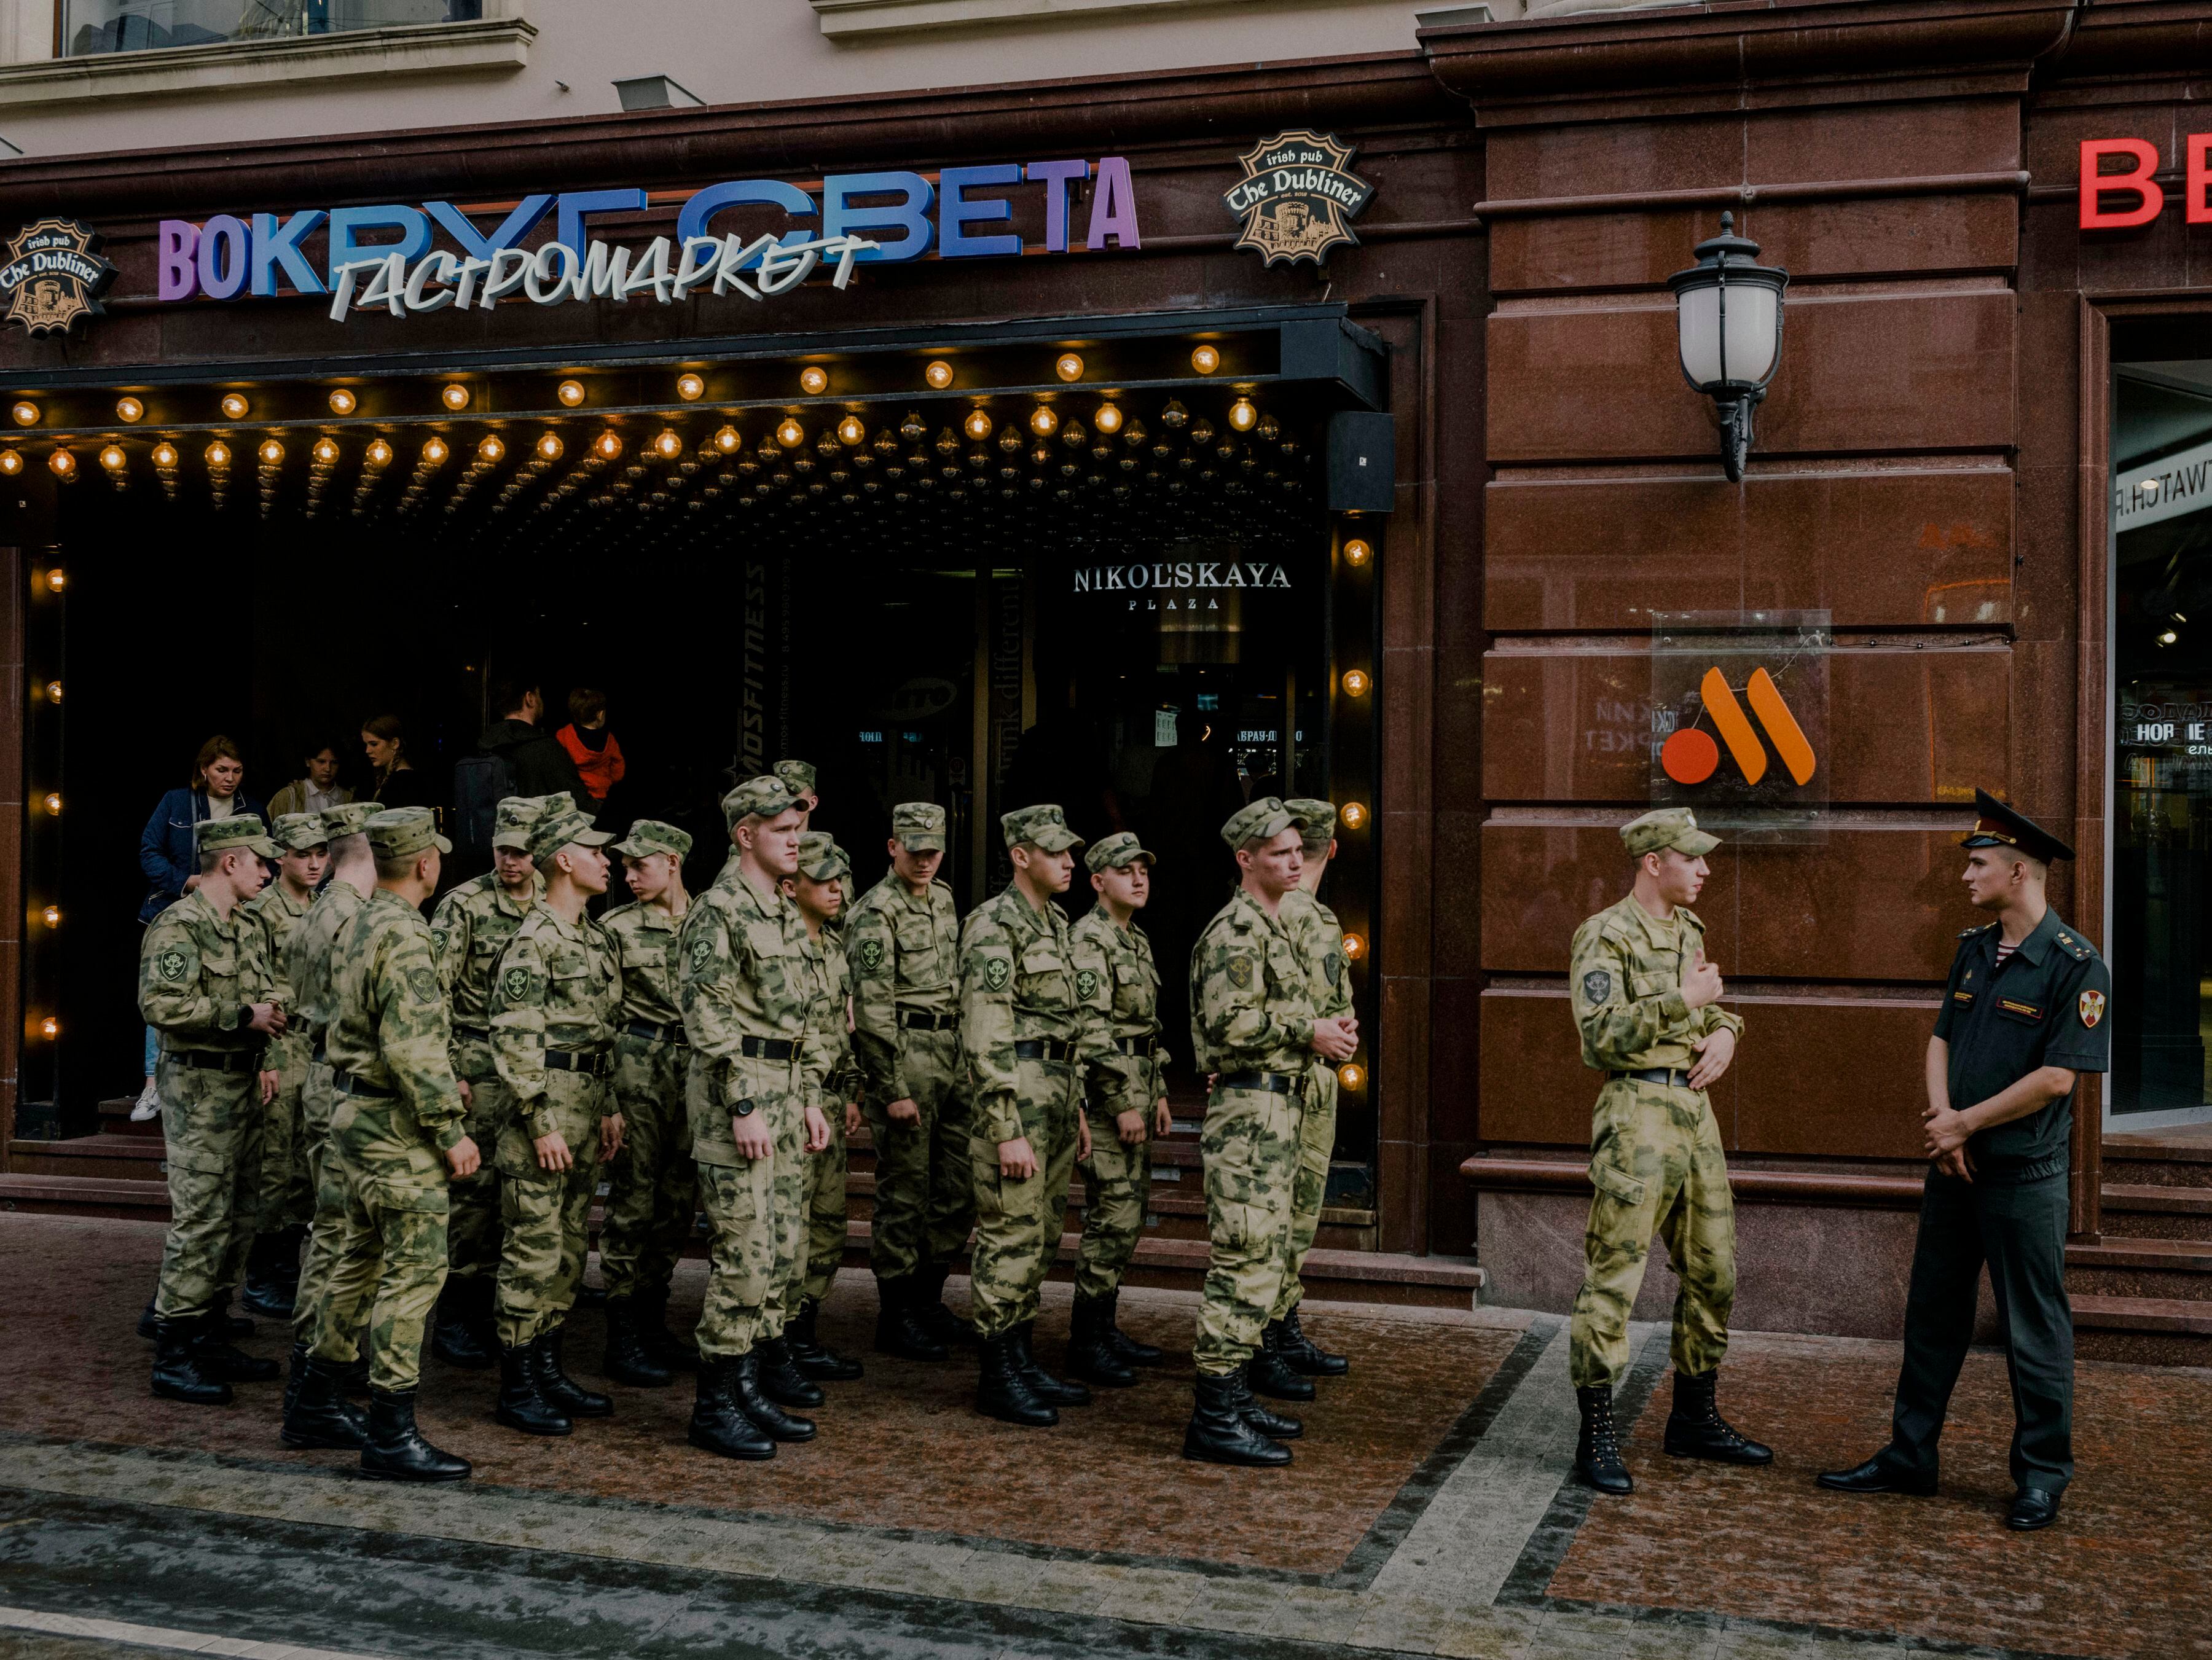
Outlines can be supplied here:
M263 1070L283 1032L261 928L239 915L268 880L276 844L252 813L199 827L199 878L139 944L139 1015L161 1037L155 1090L168 1138L168 1240L153 1300L153 1393L192 1406L230 1401L230 1384L276 1366L230 1346L230 1293L252 1242L261 1123L276 1099Z

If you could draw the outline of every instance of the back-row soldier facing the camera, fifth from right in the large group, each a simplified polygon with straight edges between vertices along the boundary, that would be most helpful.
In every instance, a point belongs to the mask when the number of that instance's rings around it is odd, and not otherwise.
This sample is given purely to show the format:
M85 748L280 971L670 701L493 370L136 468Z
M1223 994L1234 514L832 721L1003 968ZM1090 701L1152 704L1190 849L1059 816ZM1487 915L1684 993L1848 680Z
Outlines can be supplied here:
M860 1116L876 1145L876 1348L945 1359L945 1278L975 1220L971 1103L960 1061L960 908L936 880L945 809L891 809L891 869L845 917Z

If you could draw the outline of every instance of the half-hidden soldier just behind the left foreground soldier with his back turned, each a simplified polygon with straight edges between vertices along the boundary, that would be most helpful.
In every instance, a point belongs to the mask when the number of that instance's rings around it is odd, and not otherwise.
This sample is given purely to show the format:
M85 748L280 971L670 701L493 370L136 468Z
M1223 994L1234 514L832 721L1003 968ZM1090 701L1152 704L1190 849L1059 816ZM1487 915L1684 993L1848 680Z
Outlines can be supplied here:
M447 1249L453 1273L438 1300L431 1351L449 1366L491 1366L498 1339L491 1328L493 1280L500 1273L500 1132L513 1118L513 1096L491 1054L491 975L522 917L544 893L531 831L549 811L575 807L568 791L504 798L491 827L491 869L447 893L429 920L438 979L453 1006L453 1072L469 1103L469 1141L484 1149L482 1167L451 1187L453 1216Z

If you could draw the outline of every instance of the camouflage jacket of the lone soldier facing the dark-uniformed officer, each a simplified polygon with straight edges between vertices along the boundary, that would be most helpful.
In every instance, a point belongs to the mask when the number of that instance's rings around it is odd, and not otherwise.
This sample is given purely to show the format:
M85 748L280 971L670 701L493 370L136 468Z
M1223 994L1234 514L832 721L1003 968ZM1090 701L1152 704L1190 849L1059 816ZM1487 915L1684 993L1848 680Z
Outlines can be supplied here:
M1743 1034L1719 1004L1690 1008L1681 970L1705 948L1705 924L1674 906L1659 922L1628 895L1575 928L1566 981L1582 1030L1582 1063L1599 1072L1697 1065L1690 1043L1708 1032Z

